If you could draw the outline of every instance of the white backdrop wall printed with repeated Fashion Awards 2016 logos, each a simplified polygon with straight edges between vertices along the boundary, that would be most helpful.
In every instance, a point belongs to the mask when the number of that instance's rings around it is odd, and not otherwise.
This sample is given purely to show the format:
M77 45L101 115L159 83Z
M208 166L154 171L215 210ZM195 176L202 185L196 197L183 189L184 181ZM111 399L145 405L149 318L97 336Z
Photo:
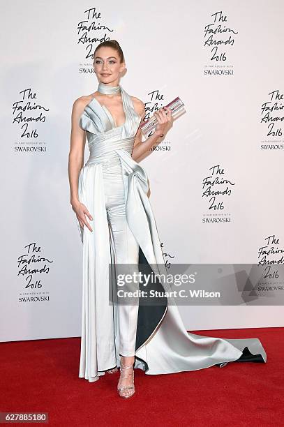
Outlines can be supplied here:
M147 117L177 96L186 106L142 160L165 260L270 269L253 301L181 306L186 328L283 326L283 14L281 0L2 4L1 341L80 336L70 114L113 38Z

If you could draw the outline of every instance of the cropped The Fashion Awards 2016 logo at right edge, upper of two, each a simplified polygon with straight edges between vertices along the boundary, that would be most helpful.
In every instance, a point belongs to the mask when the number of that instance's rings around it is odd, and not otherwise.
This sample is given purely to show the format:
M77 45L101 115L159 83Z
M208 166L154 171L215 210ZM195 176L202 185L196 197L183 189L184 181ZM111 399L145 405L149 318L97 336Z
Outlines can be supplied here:
M260 123L264 126L264 140L261 141L262 150L284 149L284 98L278 89L268 93L267 99L260 107Z

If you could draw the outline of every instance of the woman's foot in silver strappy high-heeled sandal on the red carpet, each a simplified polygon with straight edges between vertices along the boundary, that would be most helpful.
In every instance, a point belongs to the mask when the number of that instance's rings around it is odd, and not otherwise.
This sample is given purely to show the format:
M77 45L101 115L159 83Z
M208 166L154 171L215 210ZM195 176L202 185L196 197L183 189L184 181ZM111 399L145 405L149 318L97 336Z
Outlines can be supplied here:
M117 390L122 398L130 398L135 394L134 387L134 356L121 356L120 377Z

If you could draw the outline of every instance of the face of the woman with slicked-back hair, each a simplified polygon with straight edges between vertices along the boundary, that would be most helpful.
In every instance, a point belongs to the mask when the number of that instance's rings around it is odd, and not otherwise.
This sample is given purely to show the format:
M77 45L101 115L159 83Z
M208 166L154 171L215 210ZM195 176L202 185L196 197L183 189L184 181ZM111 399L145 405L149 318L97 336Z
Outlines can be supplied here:
M124 67L125 63L120 62L117 50L112 47L100 47L96 51L94 70L99 82L110 83L119 80L119 73L124 70Z

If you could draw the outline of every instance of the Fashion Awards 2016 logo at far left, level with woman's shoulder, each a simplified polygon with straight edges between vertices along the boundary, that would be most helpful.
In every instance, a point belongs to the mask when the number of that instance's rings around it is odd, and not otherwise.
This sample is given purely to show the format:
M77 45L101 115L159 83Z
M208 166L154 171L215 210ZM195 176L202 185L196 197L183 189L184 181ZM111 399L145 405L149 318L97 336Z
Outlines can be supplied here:
M45 142L40 140L40 129L49 108L39 103L37 93L31 88L20 91L12 111L13 124L17 126L18 137L21 138L15 142L15 151L46 151Z

